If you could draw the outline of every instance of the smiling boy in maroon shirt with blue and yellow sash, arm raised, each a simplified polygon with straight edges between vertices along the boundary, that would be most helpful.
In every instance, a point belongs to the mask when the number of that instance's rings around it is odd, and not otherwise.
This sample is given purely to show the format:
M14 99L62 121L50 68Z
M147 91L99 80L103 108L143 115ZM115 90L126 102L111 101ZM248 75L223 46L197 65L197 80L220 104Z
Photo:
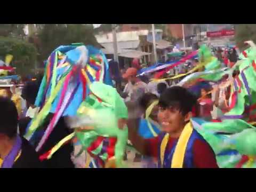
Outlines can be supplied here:
M129 118L129 140L142 155L158 158L158 167L217 168L212 148L190 123L196 104L196 98L185 88L170 87L159 99L158 122L163 132L143 139L137 132L139 120Z

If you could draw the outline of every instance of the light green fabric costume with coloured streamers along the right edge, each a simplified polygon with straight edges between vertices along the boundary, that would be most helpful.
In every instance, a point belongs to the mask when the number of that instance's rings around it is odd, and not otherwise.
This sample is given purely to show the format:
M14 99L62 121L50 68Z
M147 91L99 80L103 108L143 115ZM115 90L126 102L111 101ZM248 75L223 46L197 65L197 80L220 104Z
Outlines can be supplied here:
M203 58L209 57L207 47L202 46L199 54L203 55ZM254 63L256 59L256 49L254 47L246 49L244 53L239 55L239 58L241 60L237 61L233 68L225 71L225 73L229 75L231 75L234 70L238 69L240 71L237 80L241 83L241 87L239 87L241 91L237 92L235 107L224 114L222 122L206 122L199 128L195 127L213 148L217 155L218 165L226 168L235 167L238 162L241 161L242 155L249 157L249 161L244 163L242 167L256 167L256 128L248 123L249 117L256 114L255 109L250 110L250 107L256 104L256 69ZM212 63L207 63L205 69L207 70L209 67L217 66L213 63L213 61ZM201 78L218 81L225 73L222 72L217 75L214 73L204 74ZM236 91L235 89L232 90L230 95ZM239 119L238 117L242 115L243 117ZM228 117L231 119L227 119ZM255 121L255 119L250 119L250 121ZM220 135L216 134L217 132L231 133L231 135ZM230 153L225 155L223 151L228 150L235 150L238 154ZM222 155L218 155L221 153Z

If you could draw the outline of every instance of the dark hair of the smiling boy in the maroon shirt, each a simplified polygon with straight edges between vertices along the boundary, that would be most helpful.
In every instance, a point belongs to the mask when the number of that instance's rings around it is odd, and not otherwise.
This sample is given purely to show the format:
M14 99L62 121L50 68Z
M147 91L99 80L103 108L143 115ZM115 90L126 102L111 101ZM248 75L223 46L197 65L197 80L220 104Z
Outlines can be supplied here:
M186 115L197 106L197 99L184 87L172 86L161 94L159 106L163 108L172 106L179 109L182 115Z

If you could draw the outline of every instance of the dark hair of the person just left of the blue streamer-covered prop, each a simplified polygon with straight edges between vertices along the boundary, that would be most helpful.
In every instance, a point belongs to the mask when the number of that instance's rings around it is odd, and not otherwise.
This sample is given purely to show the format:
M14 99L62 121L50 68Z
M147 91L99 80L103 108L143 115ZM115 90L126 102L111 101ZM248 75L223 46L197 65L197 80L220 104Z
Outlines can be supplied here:
M34 105L37 93L39 90L40 82L37 81L29 81L22 89L21 97L25 99L30 105Z

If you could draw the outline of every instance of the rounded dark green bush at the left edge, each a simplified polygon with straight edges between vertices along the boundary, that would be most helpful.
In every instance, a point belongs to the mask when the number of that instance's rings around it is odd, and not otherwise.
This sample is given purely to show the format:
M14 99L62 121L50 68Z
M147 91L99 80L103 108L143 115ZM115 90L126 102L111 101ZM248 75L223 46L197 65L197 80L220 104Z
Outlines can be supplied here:
M33 44L17 38L0 37L0 55L13 55L12 67L17 68L17 74L26 75L35 67L37 50Z

